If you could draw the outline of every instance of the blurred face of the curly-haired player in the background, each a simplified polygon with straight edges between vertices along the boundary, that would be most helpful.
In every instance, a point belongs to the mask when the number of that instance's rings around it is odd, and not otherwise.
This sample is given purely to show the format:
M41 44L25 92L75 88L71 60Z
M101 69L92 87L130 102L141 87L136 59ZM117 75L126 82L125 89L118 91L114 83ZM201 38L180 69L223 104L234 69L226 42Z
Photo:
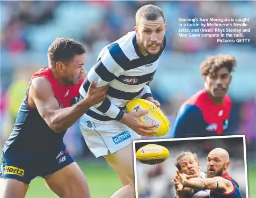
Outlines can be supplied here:
M222 67L215 74L209 74L205 80L211 95L215 98L223 98L229 89L231 76L228 69Z

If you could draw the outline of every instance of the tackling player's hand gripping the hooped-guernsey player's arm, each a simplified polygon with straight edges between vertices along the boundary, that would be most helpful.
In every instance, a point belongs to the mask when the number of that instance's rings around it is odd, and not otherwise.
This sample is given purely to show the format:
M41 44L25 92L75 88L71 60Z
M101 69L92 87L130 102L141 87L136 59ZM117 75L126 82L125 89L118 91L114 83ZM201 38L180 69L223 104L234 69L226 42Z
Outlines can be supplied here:
M97 80L92 82L86 94L86 100L91 106L100 103L107 97L108 85L96 87L97 83Z

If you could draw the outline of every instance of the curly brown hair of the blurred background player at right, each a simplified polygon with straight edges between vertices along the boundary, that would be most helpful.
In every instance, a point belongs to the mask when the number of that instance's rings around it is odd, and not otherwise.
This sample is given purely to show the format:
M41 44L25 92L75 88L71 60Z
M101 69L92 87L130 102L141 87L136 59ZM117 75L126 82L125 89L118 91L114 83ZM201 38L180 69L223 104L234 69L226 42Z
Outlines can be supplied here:
M209 74L215 75L215 73L222 67L225 67L229 70L229 73L231 73L234 71L235 66L235 56L217 54L214 56L209 56L207 60L201 64L200 70L202 76L208 76Z

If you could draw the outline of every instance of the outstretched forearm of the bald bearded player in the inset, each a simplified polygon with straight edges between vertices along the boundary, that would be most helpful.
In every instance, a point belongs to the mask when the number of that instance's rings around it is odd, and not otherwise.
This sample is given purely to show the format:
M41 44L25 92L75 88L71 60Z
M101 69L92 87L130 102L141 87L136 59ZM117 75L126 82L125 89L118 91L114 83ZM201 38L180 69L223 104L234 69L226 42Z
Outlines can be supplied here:
M216 181L212 178L192 178L186 180L184 187L198 188L198 189L216 189Z

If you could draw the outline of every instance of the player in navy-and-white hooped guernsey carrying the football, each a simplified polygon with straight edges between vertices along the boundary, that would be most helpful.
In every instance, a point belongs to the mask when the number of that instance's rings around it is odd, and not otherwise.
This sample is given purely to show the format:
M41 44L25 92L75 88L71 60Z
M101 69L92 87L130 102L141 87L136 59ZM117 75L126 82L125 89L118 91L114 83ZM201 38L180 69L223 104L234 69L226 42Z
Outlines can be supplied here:
M131 143L139 135L156 133L150 129L156 124L138 120L147 111L125 113L126 103L142 98L160 106L152 97L149 82L166 46L163 11L155 5L142 6L136 13L134 29L101 50L80 89L85 97L94 80L98 80L97 86L109 85L107 99L91 107L82 116L80 126L89 149L96 157L104 156L122 182L123 188L111 198L135 197Z

